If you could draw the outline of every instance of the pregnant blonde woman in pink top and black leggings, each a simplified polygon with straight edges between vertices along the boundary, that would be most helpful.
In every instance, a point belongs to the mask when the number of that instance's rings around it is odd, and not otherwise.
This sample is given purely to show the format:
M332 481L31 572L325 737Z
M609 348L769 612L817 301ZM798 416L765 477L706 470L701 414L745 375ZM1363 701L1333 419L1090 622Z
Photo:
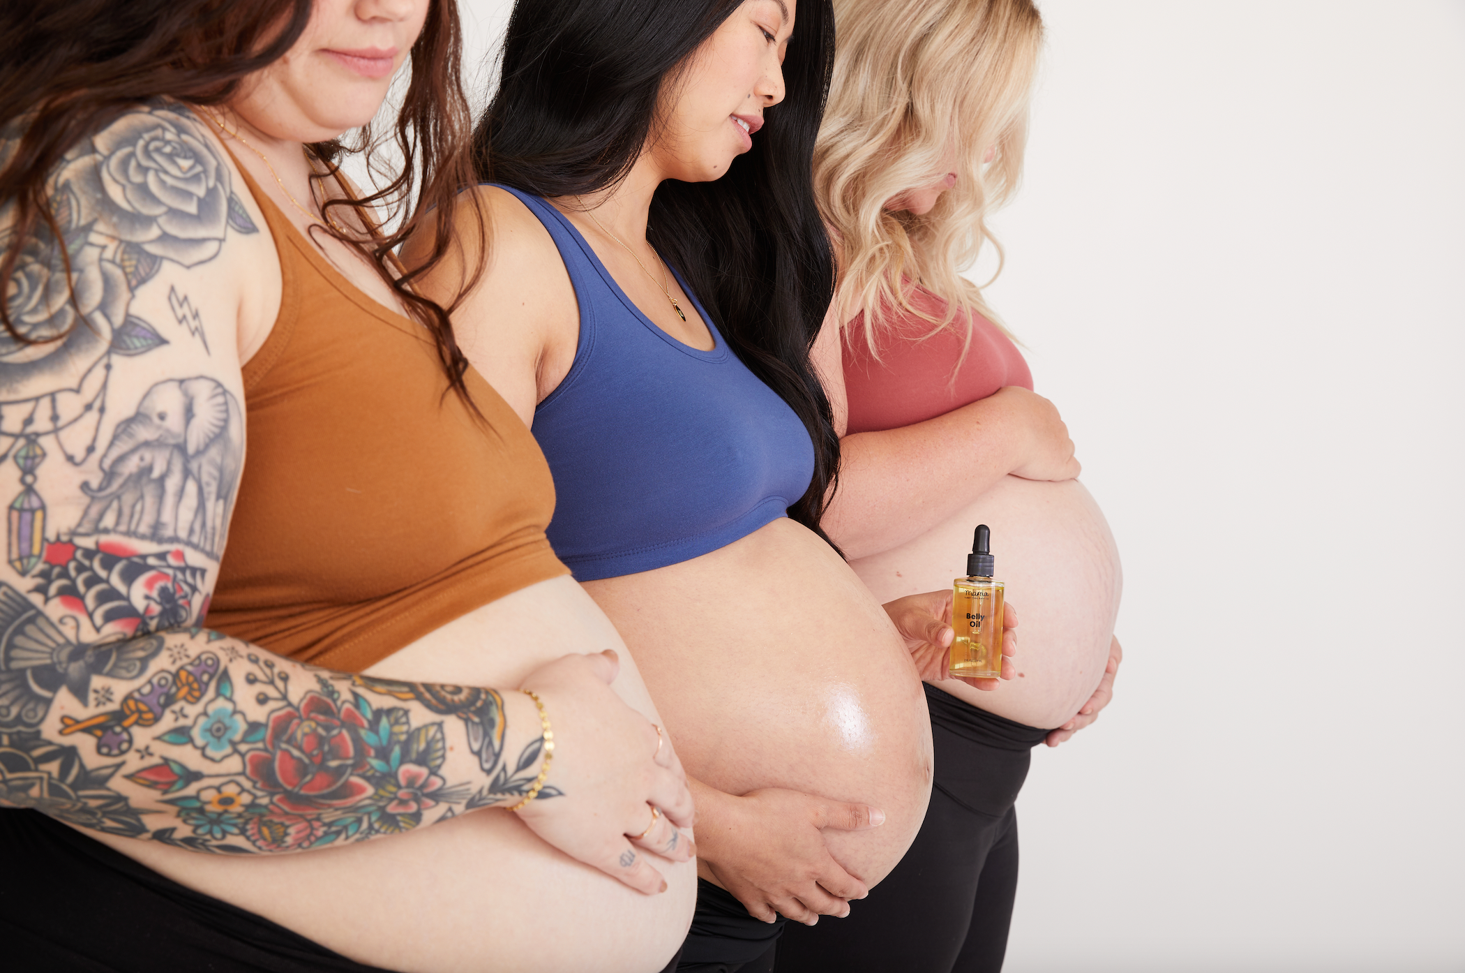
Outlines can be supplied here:
M1056 410L957 273L1017 183L1042 25L1028 0L835 0L835 12L815 180L841 256L844 340L842 363L820 368L848 422L825 526L891 599L965 574L973 529L989 525L996 576L1021 605L1021 654L998 692L923 668L936 781L921 832L850 919L790 929L778 969L995 972L1030 750L1108 702L1100 680L1119 652L1109 528L1074 479Z

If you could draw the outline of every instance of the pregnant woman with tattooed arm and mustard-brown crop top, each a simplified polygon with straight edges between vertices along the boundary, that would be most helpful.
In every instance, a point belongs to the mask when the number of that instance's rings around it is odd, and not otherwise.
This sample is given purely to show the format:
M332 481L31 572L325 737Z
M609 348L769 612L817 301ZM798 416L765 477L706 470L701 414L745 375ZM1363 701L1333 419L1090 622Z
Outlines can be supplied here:
M0 966L661 970L671 737L388 259L472 201L453 3L45 10L0 29ZM409 59L438 223L375 236L333 139Z

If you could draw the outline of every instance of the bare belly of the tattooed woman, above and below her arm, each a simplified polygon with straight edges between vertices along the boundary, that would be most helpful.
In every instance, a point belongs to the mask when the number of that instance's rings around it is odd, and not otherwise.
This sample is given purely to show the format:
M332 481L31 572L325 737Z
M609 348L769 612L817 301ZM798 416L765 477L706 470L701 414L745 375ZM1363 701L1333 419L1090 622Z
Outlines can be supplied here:
M607 648L621 655L614 689L659 721L615 630L568 577L485 605L368 671L507 687L567 652ZM670 888L642 895L495 809L365 844L246 859L94 837L183 885L403 973L652 973L681 945L696 898L690 862L656 860Z

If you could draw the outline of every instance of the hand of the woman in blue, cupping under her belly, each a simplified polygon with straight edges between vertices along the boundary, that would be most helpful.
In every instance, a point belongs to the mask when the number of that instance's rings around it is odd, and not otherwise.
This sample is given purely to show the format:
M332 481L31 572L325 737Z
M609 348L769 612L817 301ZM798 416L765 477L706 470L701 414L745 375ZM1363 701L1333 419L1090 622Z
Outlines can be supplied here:
M850 900L869 894L829 854L823 829L878 828L883 810L779 787L734 796L693 781L693 790L699 863L754 919L774 922L782 913L812 926L819 916L848 916Z

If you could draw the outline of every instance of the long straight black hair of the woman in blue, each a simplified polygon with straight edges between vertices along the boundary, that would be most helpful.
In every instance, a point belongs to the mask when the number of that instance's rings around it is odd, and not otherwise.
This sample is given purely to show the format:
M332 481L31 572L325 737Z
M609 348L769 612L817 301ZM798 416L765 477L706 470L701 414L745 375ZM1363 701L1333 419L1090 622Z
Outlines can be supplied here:
M655 135L661 94L740 6L519 0L498 91L473 132L479 179L538 196L612 186ZM835 283L812 174L832 69L831 0L803 0L785 51L785 97L765 113L752 151L715 182L664 182L646 226L732 352L809 429L815 475L788 513L825 541L819 519L839 438L809 353Z

